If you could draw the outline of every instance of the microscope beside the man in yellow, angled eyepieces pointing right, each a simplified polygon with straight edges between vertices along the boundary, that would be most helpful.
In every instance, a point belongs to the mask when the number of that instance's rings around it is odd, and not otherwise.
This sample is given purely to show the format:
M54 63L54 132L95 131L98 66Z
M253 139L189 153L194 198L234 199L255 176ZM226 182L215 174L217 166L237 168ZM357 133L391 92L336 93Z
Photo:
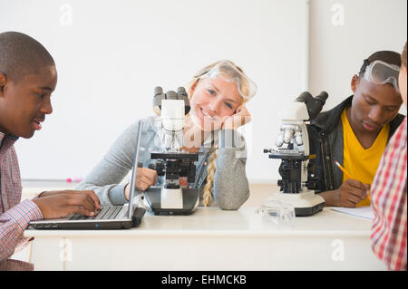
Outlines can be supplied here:
M264 149L269 159L282 159L277 181L280 192L274 192L271 199L289 203L295 207L296 217L316 214L325 207L325 199L315 194L319 179L314 166L309 162L316 155L309 153L309 138L306 122L314 120L322 111L328 95L321 92L313 97L303 92L282 116L282 125L277 136L276 148Z

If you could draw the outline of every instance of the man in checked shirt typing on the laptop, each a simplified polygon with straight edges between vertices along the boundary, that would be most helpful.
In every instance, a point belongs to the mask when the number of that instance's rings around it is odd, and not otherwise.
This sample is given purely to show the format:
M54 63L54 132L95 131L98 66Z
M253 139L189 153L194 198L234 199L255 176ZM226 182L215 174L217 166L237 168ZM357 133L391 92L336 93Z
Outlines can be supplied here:
M73 213L93 216L100 208L90 190L49 191L21 201L14 143L41 130L45 115L53 112L50 96L56 83L53 57L41 43L26 34L0 34L0 271L34 269L9 259L31 241L24 238L30 221Z

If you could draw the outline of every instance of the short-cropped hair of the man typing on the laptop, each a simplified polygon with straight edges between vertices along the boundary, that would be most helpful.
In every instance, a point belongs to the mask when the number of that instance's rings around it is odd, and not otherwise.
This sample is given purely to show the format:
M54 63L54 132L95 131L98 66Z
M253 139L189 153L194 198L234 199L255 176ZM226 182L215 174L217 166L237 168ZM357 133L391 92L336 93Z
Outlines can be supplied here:
M0 34L0 73L18 82L45 66L55 66L53 57L43 44L19 32Z

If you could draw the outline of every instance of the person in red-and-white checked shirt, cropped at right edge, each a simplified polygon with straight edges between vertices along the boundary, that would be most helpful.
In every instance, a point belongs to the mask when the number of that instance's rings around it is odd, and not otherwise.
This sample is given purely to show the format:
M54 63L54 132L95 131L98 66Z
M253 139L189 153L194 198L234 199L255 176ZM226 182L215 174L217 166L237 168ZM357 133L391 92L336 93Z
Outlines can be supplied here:
M402 54L403 65L399 75L399 87L405 107L407 107L406 57L405 43ZM406 132L405 117L384 150L371 191L371 206L374 210L371 246L374 254L384 262L387 269L395 271L407 269Z

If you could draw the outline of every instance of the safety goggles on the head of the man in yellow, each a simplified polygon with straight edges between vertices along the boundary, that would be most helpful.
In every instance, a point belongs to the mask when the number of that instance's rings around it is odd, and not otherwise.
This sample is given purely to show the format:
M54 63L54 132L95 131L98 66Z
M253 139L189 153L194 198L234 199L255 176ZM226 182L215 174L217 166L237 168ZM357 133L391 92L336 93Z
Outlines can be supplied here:
M398 87L398 77L400 74L400 67L397 65L384 63L381 60L376 60L367 66L364 72L364 79L375 84L393 84L395 91L400 93Z

